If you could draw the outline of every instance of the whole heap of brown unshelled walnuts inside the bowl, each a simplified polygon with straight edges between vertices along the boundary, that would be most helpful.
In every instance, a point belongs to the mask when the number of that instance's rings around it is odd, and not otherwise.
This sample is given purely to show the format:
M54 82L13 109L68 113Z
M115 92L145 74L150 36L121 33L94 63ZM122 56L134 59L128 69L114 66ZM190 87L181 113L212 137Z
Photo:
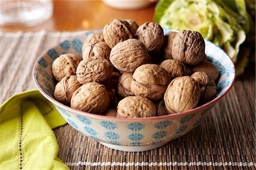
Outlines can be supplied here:
M114 19L90 34L82 60L60 55L52 64L55 99L74 109L113 117L154 117L190 110L216 96L218 71L199 32L163 34L153 22Z

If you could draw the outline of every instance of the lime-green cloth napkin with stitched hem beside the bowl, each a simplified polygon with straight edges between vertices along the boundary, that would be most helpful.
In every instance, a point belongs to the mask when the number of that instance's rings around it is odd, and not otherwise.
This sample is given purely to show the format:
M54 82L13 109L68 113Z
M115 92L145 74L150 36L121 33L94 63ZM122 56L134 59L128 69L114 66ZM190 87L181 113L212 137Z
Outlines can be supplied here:
M65 123L38 90L9 98L0 106L0 169L69 169L51 130Z

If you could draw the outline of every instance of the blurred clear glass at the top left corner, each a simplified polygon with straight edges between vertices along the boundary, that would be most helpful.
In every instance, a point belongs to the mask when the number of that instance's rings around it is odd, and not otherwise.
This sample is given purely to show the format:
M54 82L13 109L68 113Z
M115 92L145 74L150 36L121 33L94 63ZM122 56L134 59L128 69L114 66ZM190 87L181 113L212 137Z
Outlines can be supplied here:
M35 26L52 16L52 1L0 0L0 26Z

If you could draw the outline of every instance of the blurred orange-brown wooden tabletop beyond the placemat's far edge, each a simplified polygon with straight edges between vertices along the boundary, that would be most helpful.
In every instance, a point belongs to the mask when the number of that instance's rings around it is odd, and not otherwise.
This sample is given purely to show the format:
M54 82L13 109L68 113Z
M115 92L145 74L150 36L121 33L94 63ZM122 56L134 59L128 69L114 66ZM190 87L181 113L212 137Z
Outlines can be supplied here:
M138 10L118 10L102 1L53 1L53 15L34 27L0 27L2 31L79 31L104 28L115 18L133 19L138 24L152 22L155 4Z

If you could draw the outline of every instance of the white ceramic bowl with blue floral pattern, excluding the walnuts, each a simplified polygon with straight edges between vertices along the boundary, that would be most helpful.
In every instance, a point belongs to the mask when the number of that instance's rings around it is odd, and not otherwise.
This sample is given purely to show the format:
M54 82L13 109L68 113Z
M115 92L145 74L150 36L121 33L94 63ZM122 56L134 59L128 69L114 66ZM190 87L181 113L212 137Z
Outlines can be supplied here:
M164 30L164 33L169 31ZM82 42L93 32L64 40L49 48L36 61L33 77L39 92L52 102L69 125L104 146L121 151L146 151L163 146L199 125L233 85L236 73L232 60L222 49L205 40L207 58L219 72L217 96L212 101L183 113L149 118L115 118L72 109L53 97L56 81L52 75L52 62L63 53L81 56Z

